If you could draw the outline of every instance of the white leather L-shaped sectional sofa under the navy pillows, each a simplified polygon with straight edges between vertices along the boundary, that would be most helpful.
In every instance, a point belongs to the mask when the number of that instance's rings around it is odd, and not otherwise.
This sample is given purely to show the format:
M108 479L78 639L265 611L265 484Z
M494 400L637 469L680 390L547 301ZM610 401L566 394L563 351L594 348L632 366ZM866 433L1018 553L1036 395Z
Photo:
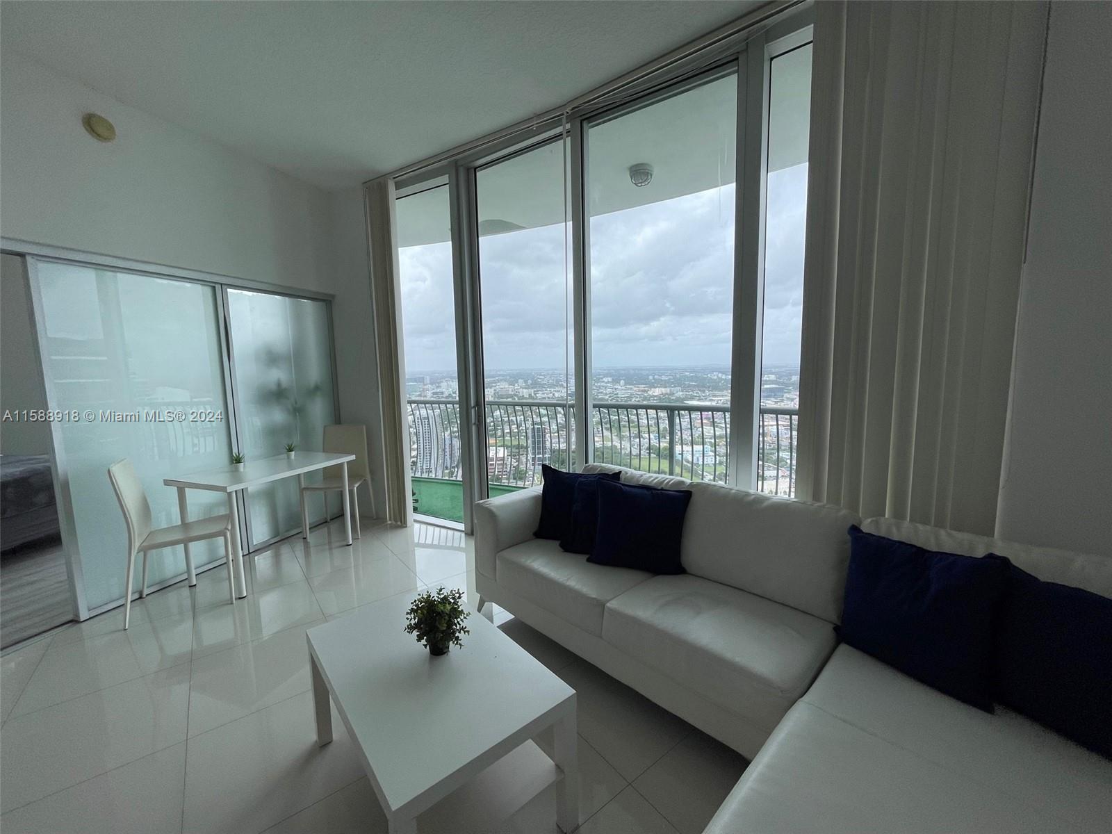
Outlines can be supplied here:
M614 471L590 465L585 471ZM707 834L1112 832L1112 762L997 707L836 646L858 519L825 505L622 470L692 490L686 574L593 565L536 539L540 490L480 502L487 600L753 762ZM868 519L930 549L992 552L1112 597L1112 560Z

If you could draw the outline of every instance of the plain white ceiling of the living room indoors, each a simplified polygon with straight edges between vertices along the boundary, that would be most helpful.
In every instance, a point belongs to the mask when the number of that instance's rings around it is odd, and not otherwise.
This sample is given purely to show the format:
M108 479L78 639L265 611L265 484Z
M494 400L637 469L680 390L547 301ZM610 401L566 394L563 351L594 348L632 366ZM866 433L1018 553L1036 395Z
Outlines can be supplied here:
M0 3L0 49L336 189L562 105L762 0Z

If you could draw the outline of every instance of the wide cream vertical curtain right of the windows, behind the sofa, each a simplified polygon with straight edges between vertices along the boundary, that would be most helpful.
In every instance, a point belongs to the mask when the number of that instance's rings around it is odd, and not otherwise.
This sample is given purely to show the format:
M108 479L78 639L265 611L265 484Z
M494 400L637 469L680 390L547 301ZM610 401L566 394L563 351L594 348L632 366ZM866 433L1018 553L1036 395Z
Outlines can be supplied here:
M816 3L800 497L993 533L1046 11Z

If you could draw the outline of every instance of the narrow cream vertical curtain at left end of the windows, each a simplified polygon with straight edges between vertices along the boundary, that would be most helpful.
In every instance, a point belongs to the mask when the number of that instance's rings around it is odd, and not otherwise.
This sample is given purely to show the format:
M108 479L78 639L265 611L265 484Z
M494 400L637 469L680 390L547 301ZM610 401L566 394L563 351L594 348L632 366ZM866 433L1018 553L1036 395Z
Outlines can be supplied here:
M383 473L386 520L408 524L413 502L409 481L409 427L404 413L406 387L398 282L394 180L380 177L366 186L370 285L378 349L378 389L383 409Z

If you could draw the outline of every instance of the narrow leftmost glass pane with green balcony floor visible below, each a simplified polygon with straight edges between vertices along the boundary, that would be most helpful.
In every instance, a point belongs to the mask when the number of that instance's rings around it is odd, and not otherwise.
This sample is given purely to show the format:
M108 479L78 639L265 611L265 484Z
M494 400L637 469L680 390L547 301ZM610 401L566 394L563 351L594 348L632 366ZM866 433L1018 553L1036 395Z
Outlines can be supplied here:
M464 520L448 187L395 207L414 512Z

